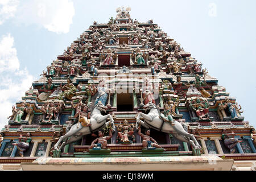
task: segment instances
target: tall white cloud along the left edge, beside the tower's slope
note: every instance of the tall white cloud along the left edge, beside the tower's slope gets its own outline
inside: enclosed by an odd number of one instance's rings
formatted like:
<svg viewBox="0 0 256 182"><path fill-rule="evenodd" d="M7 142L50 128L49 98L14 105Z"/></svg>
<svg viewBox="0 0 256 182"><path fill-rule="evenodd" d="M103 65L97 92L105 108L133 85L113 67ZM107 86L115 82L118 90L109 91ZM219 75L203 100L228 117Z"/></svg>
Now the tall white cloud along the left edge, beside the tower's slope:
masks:
<svg viewBox="0 0 256 182"><path fill-rule="evenodd" d="M3 51L3 47L4 50ZM19 60L14 47L14 38L8 34L0 39L0 129L8 124L11 106L22 100L34 78L27 69L19 68Z"/></svg>

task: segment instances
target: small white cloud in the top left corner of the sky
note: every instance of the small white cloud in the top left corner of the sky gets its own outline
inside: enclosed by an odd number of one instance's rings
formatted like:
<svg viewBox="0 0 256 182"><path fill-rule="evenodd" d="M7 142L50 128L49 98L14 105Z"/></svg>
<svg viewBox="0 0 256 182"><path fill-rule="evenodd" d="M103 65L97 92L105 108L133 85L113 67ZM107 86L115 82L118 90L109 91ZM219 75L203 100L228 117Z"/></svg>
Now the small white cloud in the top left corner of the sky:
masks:
<svg viewBox="0 0 256 182"><path fill-rule="evenodd" d="M19 0L1 0L0 1L0 25L5 20L15 15Z"/></svg>

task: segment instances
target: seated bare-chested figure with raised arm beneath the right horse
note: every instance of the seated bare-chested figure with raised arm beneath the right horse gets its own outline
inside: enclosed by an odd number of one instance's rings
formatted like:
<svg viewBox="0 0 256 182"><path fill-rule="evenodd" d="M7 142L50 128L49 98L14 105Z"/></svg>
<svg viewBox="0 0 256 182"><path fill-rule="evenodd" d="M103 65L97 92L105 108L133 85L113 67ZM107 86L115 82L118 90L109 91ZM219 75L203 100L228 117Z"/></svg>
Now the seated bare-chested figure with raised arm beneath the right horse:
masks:
<svg viewBox="0 0 256 182"><path fill-rule="evenodd" d="M158 145L158 142L154 140L154 138L150 137L150 129L146 129L145 134L143 135L141 133L141 127L138 127L139 131L138 134L142 138L142 147L147 150L154 150L155 148L162 148ZM163 148L164 151L166 151L165 148Z"/></svg>

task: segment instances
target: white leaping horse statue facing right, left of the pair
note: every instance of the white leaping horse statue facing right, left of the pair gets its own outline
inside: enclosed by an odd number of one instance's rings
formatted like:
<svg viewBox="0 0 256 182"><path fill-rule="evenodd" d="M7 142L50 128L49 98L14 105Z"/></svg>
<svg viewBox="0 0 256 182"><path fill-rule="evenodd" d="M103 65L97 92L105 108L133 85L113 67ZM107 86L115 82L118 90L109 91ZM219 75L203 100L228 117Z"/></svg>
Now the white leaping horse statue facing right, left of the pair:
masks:
<svg viewBox="0 0 256 182"><path fill-rule="evenodd" d="M89 107L92 107L92 102L89 103ZM101 115L101 111L105 111L108 109L107 106L104 106L100 101L97 105L94 106L94 109L92 110L92 113L90 114L90 124L92 126L89 127L83 127L81 125L81 122L77 122L75 125L67 127L66 131L67 133L60 137L60 139L57 141L57 143L54 146L54 150L60 151L61 148L63 148L66 144L76 142L77 140L80 140L82 136L91 134L93 131L96 131L98 129L101 129L102 127L109 126L110 123L112 124L113 131L115 130L114 125L114 119L110 114L108 115ZM106 122L106 119L110 119L110 121ZM60 142L67 139L65 142L63 142L58 148Z"/></svg>

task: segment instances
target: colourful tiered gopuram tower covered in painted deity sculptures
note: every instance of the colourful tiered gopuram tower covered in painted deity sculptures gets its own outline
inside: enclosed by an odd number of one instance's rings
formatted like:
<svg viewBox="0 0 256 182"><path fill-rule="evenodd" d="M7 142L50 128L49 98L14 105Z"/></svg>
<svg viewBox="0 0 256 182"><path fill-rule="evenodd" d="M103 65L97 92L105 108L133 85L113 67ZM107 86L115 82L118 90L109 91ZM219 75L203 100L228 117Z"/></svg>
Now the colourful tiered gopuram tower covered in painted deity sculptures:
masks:
<svg viewBox="0 0 256 182"><path fill-rule="evenodd" d="M16 102L2 169L255 170L255 130L236 98L129 11L93 22Z"/></svg>

